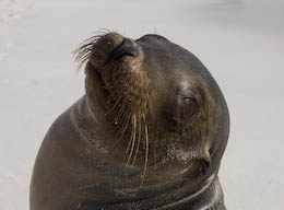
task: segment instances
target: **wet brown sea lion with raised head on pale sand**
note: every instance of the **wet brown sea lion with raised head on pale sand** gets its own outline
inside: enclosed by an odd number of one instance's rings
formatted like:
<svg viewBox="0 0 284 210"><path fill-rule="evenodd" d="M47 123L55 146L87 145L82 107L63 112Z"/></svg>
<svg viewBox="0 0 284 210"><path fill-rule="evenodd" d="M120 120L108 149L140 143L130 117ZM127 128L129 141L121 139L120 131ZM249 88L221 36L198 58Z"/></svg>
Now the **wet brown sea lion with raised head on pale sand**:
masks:
<svg viewBox="0 0 284 210"><path fill-rule="evenodd" d="M201 61L163 36L115 32L75 55L86 94L44 139L31 210L224 210L228 109Z"/></svg>

